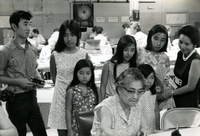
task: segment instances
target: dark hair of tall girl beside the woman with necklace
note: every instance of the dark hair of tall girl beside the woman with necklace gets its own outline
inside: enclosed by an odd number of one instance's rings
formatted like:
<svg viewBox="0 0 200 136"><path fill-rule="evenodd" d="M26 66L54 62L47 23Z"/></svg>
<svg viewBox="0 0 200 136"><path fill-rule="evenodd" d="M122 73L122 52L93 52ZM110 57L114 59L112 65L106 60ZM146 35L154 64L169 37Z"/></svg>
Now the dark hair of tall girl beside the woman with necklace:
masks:
<svg viewBox="0 0 200 136"><path fill-rule="evenodd" d="M152 41L151 38L154 34L156 33L164 33L166 35L166 42L165 45L163 46L162 49L160 49L158 52L166 52L167 51L167 45L168 45L168 32L165 26L157 24L155 26L153 26L151 28L151 30L148 33L148 37L147 37L147 45L145 47L146 50L152 51L153 47L152 47Z"/></svg>

